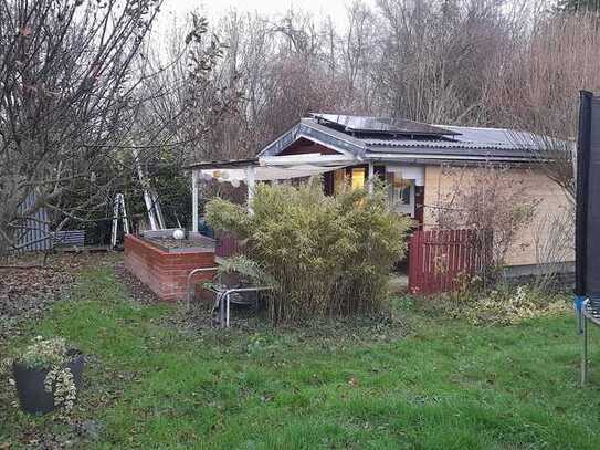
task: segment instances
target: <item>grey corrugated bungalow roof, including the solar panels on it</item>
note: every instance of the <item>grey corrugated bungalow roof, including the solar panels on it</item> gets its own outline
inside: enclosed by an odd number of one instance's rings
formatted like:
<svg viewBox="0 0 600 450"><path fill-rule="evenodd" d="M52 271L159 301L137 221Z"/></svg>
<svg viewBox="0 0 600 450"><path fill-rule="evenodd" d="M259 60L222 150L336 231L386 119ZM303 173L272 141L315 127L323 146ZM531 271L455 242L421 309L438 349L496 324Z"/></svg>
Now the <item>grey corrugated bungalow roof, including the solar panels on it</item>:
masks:
<svg viewBox="0 0 600 450"><path fill-rule="evenodd" d="M429 125L402 119L313 113L259 155L276 156L299 138L360 160L404 163L539 161L540 139L505 128ZM550 157L550 156L549 156Z"/></svg>

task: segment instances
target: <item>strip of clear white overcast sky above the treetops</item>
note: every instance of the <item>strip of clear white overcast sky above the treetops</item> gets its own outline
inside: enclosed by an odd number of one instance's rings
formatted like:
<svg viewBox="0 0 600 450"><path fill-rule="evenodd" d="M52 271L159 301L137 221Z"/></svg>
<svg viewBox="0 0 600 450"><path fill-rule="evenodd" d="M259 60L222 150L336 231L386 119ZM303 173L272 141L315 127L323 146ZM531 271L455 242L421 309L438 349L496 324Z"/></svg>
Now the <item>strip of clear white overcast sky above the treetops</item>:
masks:
<svg viewBox="0 0 600 450"><path fill-rule="evenodd" d="M160 22L171 23L172 18L200 9L209 20L215 20L231 9L284 14L290 8L313 13L316 18L330 15L338 27L346 24L347 0L165 0Z"/></svg>

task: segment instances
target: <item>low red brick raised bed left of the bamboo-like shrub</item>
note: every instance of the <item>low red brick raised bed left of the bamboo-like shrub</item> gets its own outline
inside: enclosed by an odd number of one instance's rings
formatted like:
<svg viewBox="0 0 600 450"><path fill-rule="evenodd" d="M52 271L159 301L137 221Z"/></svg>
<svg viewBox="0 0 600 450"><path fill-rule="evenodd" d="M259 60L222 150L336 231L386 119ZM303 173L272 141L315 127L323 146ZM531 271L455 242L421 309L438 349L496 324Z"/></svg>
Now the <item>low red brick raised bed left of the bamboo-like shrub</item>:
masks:
<svg viewBox="0 0 600 450"><path fill-rule="evenodd" d="M125 269L164 301L185 300L190 271L214 265L214 249L169 252L136 236L125 237ZM212 272L199 273L193 283L212 275Z"/></svg>

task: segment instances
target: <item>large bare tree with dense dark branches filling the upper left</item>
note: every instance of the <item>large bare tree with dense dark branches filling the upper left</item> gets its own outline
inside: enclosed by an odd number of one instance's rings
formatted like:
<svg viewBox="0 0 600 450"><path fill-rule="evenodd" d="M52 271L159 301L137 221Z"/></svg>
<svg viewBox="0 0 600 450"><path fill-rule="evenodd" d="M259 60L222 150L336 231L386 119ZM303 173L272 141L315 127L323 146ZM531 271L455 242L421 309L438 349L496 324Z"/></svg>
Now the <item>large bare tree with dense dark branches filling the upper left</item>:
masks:
<svg viewBox="0 0 600 450"><path fill-rule="evenodd" d="M109 218L117 189L140 193L136 160L173 176L218 155L207 136L239 97L234 75L223 83L215 71L224 48L200 14L172 28L168 49L149 40L159 6L0 6L0 248L14 248L40 208L54 229Z"/></svg>

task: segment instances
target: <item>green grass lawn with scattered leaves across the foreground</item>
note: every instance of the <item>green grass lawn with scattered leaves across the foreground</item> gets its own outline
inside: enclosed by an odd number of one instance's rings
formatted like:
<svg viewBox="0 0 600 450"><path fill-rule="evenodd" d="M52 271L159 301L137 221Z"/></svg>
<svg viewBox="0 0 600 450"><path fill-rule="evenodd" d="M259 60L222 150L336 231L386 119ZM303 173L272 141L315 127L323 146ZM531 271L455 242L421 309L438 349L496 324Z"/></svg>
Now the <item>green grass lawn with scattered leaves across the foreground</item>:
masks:
<svg viewBox="0 0 600 450"><path fill-rule="evenodd" d="M409 335L386 339L349 327L186 334L165 324L175 308L127 301L110 268L84 272L71 301L12 343L57 334L92 355L81 401L70 418L32 418L2 387L0 448L600 448L600 378L577 387L572 316L474 327L404 306ZM96 439L77 440L88 419Z"/></svg>

